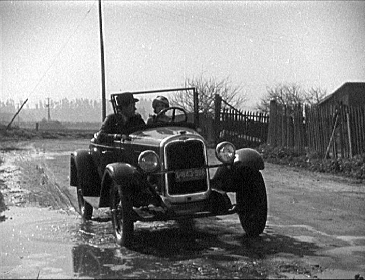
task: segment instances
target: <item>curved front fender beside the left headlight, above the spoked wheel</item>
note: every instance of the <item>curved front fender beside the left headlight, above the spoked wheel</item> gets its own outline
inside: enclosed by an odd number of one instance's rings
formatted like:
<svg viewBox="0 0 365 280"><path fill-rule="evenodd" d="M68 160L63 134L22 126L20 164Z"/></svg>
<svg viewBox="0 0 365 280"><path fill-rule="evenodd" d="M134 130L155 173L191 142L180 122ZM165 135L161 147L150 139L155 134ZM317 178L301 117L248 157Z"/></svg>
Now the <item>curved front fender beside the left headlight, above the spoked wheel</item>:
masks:
<svg viewBox="0 0 365 280"><path fill-rule="evenodd" d="M121 186L122 195L131 195L133 206L161 204L161 198L147 179L132 165L119 162L108 164L101 183L99 207L108 207L113 183Z"/></svg>

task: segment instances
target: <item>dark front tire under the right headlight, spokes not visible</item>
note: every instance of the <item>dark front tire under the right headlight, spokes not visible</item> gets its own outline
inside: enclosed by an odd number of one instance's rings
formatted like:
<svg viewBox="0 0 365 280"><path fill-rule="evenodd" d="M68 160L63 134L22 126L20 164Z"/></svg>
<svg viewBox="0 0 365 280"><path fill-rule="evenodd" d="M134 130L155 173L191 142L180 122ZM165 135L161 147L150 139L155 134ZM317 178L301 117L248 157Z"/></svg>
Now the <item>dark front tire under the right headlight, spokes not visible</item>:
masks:
<svg viewBox="0 0 365 280"><path fill-rule="evenodd" d="M258 236L265 228L267 219L267 195L260 171L249 175L247 187L236 192L237 214L248 236Z"/></svg>

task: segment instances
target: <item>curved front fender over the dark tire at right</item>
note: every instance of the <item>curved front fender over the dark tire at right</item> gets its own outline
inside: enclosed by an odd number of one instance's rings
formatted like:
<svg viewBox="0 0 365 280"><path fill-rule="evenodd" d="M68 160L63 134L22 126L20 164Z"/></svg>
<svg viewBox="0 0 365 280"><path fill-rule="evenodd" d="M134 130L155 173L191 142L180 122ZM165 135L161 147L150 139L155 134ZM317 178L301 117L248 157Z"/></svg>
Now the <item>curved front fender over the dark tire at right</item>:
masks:
<svg viewBox="0 0 365 280"><path fill-rule="evenodd" d="M236 192L245 187L252 171L264 169L264 160L260 153L254 149L244 148L236 151L234 162L230 166L221 166L212 178L212 187Z"/></svg>

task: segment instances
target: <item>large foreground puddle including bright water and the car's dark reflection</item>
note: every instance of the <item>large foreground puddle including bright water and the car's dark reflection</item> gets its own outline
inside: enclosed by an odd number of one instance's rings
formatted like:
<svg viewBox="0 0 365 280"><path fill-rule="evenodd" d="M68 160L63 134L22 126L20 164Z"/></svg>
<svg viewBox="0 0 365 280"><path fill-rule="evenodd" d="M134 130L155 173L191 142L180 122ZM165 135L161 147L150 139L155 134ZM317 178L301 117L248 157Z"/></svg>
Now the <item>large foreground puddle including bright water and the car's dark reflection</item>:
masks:
<svg viewBox="0 0 365 280"><path fill-rule="evenodd" d="M36 207L10 207L2 232L1 266L9 278L232 278L255 275L255 262L175 222L136 223L132 250L119 247L111 223ZM227 247L228 246L228 247ZM233 265L233 266L232 266ZM245 267L244 270L243 267Z"/></svg>

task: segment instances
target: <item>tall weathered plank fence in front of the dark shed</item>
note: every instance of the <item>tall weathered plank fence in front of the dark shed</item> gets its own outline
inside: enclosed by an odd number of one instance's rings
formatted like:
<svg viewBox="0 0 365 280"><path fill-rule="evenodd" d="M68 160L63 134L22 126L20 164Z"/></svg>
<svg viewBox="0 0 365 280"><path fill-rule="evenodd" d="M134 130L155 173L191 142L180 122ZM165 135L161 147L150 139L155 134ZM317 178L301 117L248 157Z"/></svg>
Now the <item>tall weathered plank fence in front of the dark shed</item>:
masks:
<svg viewBox="0 0 365 280"><path fill-rule="evenodd" d="M365 107L283 106L272 101L267 143L332 158L365 153Z"/></svg>

